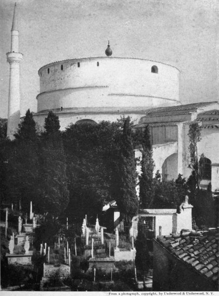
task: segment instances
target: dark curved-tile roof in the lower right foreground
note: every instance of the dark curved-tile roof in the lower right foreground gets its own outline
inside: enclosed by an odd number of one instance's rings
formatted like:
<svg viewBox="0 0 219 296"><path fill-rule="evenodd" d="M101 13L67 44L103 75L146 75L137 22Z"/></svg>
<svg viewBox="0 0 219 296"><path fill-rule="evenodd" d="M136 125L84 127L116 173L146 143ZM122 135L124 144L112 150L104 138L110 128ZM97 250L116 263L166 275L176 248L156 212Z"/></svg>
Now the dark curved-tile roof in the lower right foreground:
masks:
<svg viewBox="0 0 219 296"><path fill-rule="evenodd" d="M157 241L198 273L218 283L218 229L198 232L183 230L181 234L158 236Z"/></svg>

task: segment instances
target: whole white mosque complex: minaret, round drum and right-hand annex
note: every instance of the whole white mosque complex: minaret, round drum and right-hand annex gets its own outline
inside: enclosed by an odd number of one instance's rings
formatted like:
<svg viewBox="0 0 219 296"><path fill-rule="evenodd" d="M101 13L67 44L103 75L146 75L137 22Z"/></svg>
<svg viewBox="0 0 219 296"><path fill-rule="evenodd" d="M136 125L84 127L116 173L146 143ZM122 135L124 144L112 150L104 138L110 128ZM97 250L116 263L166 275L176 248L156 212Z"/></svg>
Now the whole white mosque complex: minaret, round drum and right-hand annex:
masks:
<svg viewBox="0 0 219 296"><path fill-rule="evenodd" d="M15 5L16 6L16 5ZM38 71L40 91L34 119L43 129L49 111L59 116L61 130L70 124L116 121L130 116L134 128L150 128L155 170L164 180L188 177L191 170L189 124L198 121L202 127L198 156L201 187L211 183L219 193L219 102L182 105L180 71L171 65L138 58L114 57L110 43L106 56L54 62ZM14 139L20 123L19 31L14 9L11 29L7 137ZM204 154L204 157L201 155ZM139 150L136 156L141 157ZM137 167L139 170L140 166Z"/></svg>

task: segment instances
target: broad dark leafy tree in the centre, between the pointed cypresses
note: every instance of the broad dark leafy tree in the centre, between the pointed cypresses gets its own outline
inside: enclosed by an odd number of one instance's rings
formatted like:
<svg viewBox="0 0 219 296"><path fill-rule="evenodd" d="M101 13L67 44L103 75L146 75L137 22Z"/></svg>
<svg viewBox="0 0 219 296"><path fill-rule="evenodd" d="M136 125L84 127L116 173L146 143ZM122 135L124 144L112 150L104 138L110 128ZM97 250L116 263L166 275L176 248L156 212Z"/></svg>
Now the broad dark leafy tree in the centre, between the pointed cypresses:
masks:
<svg viewBox="0 0 219 296"><path fill-rule="evenodd" d="M118 123L103 121L97 125L72 125L63 135L70 190L68 211L77 220L87 214L95 222L103 203L113 199L118 133Z"/></svg>

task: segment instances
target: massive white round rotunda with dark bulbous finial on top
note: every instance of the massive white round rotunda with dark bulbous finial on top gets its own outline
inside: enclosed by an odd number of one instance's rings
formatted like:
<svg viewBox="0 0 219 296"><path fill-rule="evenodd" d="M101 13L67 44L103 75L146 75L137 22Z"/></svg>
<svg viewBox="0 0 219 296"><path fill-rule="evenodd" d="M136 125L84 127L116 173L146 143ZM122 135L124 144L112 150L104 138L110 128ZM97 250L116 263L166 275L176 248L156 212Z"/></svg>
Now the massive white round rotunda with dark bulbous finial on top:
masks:
<svg viewBox="0 0 219 296"><path fill-rule="evenodd" d="M106 54L108 50L110 45ZM71 123L114 121L123 115L138 123L148 109L180 105L180 72L164 63L112 56L82 58L45 65L38 74L34 117L40 126L49 110L56 112L65 129Z"/></svg>

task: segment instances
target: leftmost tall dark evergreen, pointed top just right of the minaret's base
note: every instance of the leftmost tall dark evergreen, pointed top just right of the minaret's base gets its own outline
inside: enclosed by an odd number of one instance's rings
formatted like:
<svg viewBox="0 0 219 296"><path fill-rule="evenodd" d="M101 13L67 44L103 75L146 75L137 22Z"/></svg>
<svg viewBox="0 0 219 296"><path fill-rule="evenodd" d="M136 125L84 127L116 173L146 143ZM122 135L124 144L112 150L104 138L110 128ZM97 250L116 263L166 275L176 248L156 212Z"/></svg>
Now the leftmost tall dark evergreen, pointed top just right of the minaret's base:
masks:
<svg viewBox="0 0 219 296"><path fill-rule="evenodd" d="M7 195L29 212L30 201L39 199L38 137L33 113L28 110L9 145L7 159ZM35 208L36 209L36 208ZM37 209L36 209L37 210Z"/></svg>

